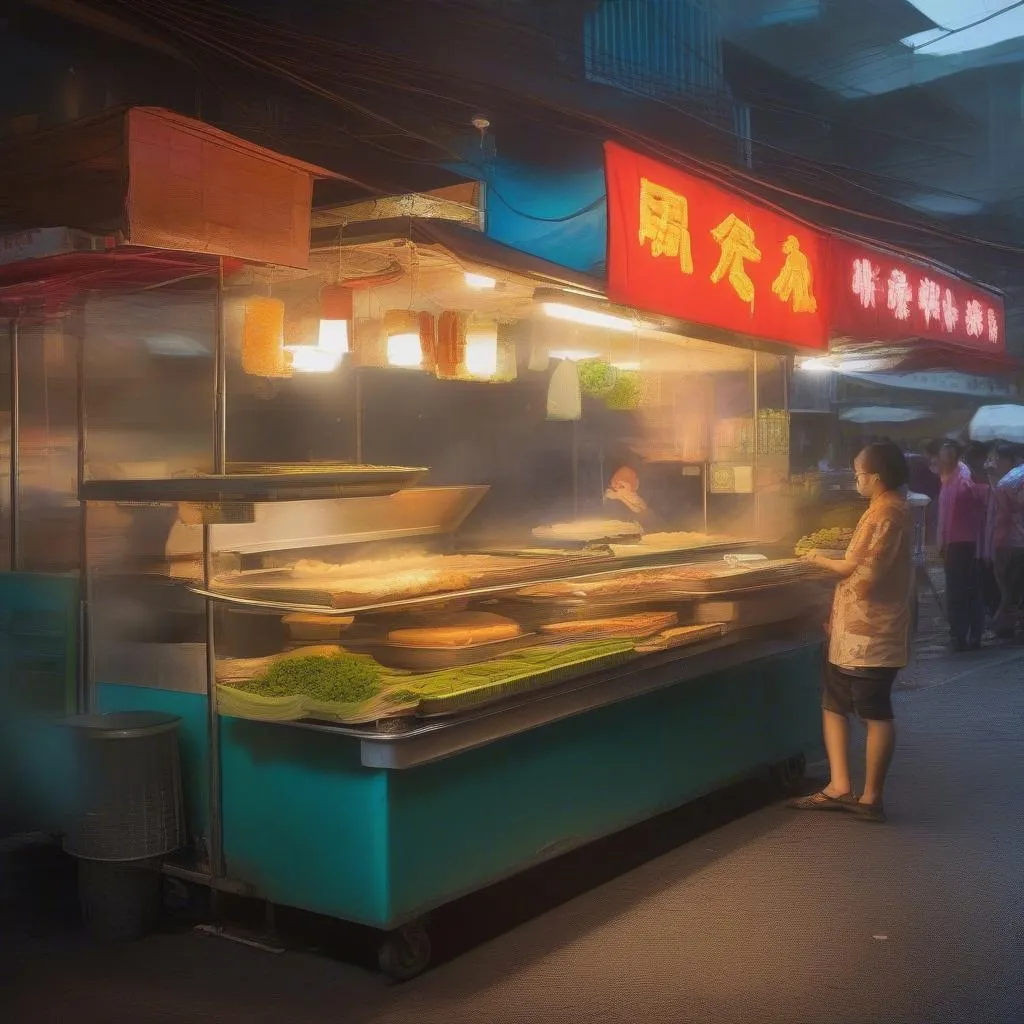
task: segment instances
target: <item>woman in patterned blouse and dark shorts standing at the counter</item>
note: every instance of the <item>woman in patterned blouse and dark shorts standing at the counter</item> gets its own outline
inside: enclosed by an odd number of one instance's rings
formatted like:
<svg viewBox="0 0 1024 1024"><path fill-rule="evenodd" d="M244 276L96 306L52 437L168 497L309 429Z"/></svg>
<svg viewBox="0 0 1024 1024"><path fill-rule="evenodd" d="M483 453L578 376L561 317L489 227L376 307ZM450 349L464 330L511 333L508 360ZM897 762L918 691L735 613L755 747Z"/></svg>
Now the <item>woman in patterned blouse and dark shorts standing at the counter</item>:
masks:
<svg viewBox="0 0 1024 1024"><path fill-rule="evenodd" d="M794 801L799 810L844 810L885 821L883 788L896 745L892 687L909 658L913 523L902 488L906 459L896 444L869 444L854 461L857 492L870 504L843 558L807 557L841 578L828 624L821 719L829 780ZM849 716L867 728L864 791L850 778Z"/></svg>

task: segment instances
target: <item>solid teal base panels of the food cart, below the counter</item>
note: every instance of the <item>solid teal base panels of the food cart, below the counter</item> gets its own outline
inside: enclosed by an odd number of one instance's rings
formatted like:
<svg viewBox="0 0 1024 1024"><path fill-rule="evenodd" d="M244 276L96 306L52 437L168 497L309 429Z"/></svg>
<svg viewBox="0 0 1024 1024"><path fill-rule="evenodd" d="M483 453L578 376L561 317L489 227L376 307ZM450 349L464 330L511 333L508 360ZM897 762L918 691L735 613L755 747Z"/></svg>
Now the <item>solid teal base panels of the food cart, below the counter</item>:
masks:
<svg viewBox="0 0 1024 1024"><path fill-rule="evenodd" d="M799 647L401 770L367 767L348 735L226 720L228 873L274 903L395 929L816 751L819 665Z"/></svg>

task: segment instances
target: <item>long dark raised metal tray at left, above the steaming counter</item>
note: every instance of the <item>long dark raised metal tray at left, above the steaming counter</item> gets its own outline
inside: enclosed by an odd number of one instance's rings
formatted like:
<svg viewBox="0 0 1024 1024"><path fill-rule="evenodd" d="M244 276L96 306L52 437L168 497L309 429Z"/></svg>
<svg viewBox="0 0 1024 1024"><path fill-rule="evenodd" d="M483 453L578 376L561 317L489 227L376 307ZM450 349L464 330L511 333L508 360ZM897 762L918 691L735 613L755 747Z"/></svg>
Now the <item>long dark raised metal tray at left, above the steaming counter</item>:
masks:
<svg viewBox="0 0 1024 1024"><path fill-rule="evenodd" d="M373 498L413 486L424 467L303 464L288 471L210 473L151 480L83 480L79 496L93 502L305 501L318 498Z"/></svg>

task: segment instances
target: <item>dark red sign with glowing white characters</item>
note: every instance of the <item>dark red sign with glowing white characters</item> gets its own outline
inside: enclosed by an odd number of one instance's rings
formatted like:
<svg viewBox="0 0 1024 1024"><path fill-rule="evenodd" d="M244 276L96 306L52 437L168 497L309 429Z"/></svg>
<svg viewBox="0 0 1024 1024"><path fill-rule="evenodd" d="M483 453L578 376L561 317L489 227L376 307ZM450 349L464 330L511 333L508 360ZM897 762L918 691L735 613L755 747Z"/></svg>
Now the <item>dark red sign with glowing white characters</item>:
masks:
<svg viewBox="0 0 1024 1024"><path fill-rule="evenodd" d="M831 240L831 332L860 340L930 338L1006 351L1002 299L927 264Z"/></svg>

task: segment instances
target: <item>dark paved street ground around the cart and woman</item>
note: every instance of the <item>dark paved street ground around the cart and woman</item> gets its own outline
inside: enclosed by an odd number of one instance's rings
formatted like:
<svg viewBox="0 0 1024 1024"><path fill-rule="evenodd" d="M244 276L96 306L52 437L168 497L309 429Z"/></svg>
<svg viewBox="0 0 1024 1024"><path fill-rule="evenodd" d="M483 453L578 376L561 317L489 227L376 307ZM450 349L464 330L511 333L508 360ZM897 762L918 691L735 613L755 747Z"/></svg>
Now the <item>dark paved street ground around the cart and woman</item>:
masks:
<svg viewBox="0 0 1024 1024"><path fill-rule="evenodd" d="M923 611L888 824L740 787L439 914L440 963L400 986L368 962L190 928L92 947L54 860L31 901L8 886L0 1020L1024 1020L1024 648L947 655Z"/></svg>

